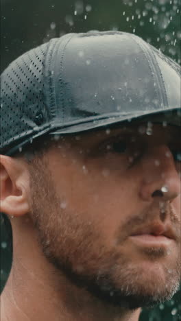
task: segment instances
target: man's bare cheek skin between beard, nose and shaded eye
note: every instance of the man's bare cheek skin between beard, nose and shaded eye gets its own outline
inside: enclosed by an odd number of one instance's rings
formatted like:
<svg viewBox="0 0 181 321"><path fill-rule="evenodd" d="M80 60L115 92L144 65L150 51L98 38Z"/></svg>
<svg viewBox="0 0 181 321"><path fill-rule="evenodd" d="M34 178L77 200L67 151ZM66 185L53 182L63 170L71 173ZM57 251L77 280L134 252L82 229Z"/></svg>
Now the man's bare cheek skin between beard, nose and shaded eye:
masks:
<svg viewBox="0 0 181 321"><path fill-rule="evenodd" d="M106 162L70 157L61 165L51 161L53 180L58 197L66 204L65 211L96 228L107 246L114 241L117 228L138 208L138 182L113 160L110 156Z"/></svg>

